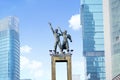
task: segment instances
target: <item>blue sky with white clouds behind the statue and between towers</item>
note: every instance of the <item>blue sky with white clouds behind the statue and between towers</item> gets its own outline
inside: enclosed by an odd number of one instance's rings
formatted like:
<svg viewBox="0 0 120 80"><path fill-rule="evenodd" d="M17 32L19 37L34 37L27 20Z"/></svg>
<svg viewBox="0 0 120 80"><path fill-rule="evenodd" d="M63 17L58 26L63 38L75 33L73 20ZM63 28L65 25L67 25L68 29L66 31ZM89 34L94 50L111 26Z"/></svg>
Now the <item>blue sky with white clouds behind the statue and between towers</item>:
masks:
<svg viewBox="0 0 120 80"><path fill-rule="evenodd" d="M72 74L84 80L80 0L0 0L0 19L7 16L19 19L21 79L51 80L51 22L54 29L59 26L72 36ZM66 63L56 63L56 67L57 80L67 80Z"/></svg>

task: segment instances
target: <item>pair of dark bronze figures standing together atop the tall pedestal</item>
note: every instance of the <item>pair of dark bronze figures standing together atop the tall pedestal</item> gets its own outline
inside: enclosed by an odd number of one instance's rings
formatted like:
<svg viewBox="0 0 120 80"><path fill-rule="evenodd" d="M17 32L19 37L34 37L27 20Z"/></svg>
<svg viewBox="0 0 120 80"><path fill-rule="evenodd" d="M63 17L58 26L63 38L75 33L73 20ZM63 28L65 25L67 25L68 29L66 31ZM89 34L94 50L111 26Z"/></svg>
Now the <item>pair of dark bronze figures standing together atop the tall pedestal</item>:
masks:
<svg viewBox="0 0 120 80"><path fill-rule="evenodd" d="M58 27L59 31L61 33L58 33L58 29L53 29L52 24L49 23L50 28L53 32L53 35L55 37L55 44L54 44L54 53L56 54L56 50L57 50L57 46L59 46L60 52L61 54L63 54L63 50L67 50L67 52L69 52L69 43L68 43L68 39L70 40L70 42L72 42L71 36L70 34L67 34L67 30L65 30L64 32L62 32L62 30L60 29L60 27ZM62 41L62 45L60 42L60 36L63 36L63 41Z"/></svg>

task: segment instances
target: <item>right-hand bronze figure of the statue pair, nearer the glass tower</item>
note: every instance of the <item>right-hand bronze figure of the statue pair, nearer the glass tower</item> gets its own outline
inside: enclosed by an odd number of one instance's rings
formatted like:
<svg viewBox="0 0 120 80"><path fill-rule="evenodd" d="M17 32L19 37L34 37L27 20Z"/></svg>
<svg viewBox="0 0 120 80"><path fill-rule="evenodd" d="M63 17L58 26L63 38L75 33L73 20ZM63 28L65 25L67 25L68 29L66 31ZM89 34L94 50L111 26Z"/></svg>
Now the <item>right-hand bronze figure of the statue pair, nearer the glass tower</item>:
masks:
<svg viewBox="0 0 120 80"><path fill-rule="evenodd" d="M68 43L68 39L70 40L70 42L72 42L71 36L69 34L67 34L67 31L65 30L64 32L62 32L62 30L60 29L60 27L58 27L62 36L63 36L63 42L62 42L62 51L63 49L66 49L67 52L69 52L69 43Z"/></svg>

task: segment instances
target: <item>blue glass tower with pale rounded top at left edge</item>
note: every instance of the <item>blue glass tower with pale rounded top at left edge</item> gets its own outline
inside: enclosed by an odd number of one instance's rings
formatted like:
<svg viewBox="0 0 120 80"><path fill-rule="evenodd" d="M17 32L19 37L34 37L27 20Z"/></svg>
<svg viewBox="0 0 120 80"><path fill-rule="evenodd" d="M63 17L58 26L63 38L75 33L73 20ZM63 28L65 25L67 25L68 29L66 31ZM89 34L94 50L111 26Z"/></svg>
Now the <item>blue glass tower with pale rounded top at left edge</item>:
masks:
<svg viewBox="0 0 120 80"><path fill-rule="evenodd" d="M0 20L0 80L20 80L18 19Z"/></svg>

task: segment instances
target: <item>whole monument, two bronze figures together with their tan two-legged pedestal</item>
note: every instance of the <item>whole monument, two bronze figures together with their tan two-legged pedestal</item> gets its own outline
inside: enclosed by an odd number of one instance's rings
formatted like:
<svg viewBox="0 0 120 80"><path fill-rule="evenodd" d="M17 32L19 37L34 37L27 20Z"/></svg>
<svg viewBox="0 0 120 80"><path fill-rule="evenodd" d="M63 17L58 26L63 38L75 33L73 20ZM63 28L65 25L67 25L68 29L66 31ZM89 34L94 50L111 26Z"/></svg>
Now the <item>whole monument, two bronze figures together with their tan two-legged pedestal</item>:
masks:
<svg viewBox="0 0 120 80"><path fill-rule="evenodd" d="M52 80L56 80L56 62L66 62L67 63L67 80L72 80L72 62L71 56L73 50L69 49L69 43L72 42L72 38L70 34L67 34L67 30L62 32L60 27L58 29L53 29L52 24L49 23L50 29L55 37L54 50L49 50L51 56L51 73ZM60 31L60 33L59 33ZM60 37L63 37L63 41L61 44ZM59 47L59 51L57 51L57 46Z"/></svg>

